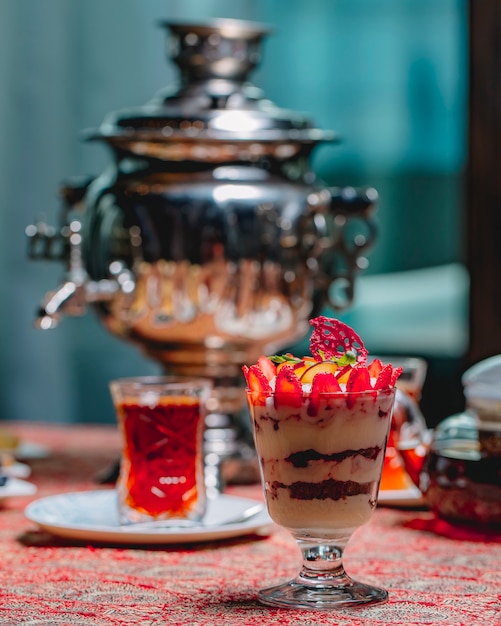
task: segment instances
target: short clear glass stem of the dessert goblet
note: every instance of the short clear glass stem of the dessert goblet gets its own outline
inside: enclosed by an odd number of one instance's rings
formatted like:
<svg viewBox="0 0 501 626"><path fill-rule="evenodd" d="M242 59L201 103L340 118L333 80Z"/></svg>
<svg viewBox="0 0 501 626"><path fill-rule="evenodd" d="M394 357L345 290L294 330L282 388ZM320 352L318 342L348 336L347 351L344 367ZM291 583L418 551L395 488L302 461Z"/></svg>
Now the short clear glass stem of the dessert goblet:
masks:
<svg viewBox="0 0 501 626"><path fill-rule="evenodd" d="M351 584L343 566L343 551L348 537L340 537L335 542L325 540L297 539L303 556L303 566L296 582L306 587L345 587Z"/></svg>

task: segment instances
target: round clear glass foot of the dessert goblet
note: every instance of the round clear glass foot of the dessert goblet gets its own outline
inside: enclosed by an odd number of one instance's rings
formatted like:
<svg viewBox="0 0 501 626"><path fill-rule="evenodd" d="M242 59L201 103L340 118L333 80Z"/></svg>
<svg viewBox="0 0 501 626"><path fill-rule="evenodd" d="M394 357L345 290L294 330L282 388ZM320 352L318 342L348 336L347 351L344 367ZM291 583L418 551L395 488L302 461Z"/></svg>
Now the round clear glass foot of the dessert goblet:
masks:
<svg viewBox="0 0 501 626"><path fill-rule="evenodd" d="M269 606L321 611L361 607L388 600L386 590L346 578L346 584L312 587L291 580L283 585L262 589L258 592L258 600Z"/></svg>

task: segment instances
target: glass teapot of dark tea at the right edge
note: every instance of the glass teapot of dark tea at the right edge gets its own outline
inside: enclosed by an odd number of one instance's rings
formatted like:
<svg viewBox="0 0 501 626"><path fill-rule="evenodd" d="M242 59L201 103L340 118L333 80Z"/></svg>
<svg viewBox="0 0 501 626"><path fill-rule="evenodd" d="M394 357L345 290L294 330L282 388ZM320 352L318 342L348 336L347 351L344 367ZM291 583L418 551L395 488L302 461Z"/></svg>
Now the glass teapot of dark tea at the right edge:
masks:
<svg viewBox="0 0 501 626"><path fill-rule="evenodd" d="M406 421L398 451L429 508L454 523L501 529L501 355L462 377L466 408L424 427L417 405L400 397Z"/></svg>

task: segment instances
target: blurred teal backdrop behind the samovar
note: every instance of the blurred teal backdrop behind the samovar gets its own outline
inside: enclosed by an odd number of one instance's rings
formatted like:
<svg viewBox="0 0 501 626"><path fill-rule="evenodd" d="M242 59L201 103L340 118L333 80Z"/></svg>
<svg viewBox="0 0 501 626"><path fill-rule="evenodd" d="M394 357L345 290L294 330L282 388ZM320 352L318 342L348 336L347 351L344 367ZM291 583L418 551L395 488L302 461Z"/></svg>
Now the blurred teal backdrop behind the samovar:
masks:
<svg viewBox="0 0 501 626"><path fill-rule="evenodd" d="M80 133L177 77L164 19L273 27L252 81L337 131L313 167L378 189L381 235L344 319L382 353L430 360L449 405L467 345L463 170L466 0L2 0L0 2L0 419L113 422L111 378L157 371L92 311L33 329L62 266L26 256L24 229L58 219L58 188L110 155ZM445 387L444 387L445 385Z"/></svg>

